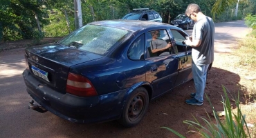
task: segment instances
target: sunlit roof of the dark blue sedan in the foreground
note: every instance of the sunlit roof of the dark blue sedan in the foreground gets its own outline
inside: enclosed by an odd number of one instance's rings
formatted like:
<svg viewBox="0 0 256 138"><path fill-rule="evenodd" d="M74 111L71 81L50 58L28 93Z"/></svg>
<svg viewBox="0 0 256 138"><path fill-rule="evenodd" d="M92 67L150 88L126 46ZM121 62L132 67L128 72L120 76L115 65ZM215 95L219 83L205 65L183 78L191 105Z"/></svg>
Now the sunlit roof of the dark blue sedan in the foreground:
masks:
<svg viewBox="0 0 256 138"><path fill-rule="evenodd" d="M137 30L144 30L147 28L167 28L168 27L168 28L179 29L167 23L158 23L154 21L126 20L126 19L94 21L89 24L94 24L98 26L109 26L113 28L131 30L134 32Z"/></svg>

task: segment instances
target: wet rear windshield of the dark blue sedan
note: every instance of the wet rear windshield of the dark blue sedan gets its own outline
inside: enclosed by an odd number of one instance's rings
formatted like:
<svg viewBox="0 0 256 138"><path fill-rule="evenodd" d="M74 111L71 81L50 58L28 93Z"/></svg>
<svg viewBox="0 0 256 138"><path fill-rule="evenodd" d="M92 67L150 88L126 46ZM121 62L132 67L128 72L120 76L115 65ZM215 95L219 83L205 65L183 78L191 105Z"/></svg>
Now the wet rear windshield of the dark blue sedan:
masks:
<svg viewBox="0 0 256 138"><path fill-rule="evenodd" d="M62 39L60 43L99 55L105 55L120 43L129 31L107 26L86 25Z"/></svg>

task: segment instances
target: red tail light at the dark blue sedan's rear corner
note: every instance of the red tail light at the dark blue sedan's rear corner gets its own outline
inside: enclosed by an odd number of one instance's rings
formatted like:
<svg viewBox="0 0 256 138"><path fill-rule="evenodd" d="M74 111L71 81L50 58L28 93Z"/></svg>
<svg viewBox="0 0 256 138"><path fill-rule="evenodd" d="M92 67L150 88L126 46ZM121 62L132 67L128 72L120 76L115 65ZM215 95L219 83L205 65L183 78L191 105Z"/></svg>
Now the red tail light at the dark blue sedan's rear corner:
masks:
<svg viewBox="0 0 256 138"><path fill-rule="evenodd" d="M73 73L68 73L66 92L80 97L92 97L98 95L89 79Z"/></svg>

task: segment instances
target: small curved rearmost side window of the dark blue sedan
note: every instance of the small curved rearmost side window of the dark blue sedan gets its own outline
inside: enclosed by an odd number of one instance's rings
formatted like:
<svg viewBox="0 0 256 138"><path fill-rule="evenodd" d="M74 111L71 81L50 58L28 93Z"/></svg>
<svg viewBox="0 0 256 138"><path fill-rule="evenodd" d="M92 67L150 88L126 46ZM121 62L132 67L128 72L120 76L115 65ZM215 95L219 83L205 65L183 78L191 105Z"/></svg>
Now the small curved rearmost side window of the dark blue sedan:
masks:
<svg viewBox="0 0 256 138"><path fill-rule="evenodd" d="M144 59L144 34L140 35L130 46L127 56L132 60L143 60Z"/></svg>

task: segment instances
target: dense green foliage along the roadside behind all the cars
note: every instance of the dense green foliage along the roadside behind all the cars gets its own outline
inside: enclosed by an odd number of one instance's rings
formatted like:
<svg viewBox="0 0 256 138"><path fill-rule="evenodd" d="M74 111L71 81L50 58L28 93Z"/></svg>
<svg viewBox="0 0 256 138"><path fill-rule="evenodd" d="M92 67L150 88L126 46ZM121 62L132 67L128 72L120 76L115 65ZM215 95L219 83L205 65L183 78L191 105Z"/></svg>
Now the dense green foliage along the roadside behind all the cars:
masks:
<svg viewBox="0 0 256 138"><path fill-rule="evenodd" d="M133 8L156 10L169 23L185 12L189 3L197 3L204 14L217 21L242 19L256 12L256 2L240 0L84 0L81 1L82 23L105 19L120 19ZM74 1L61 0L1 0L0 41L62 37L75 30Z"/></svg>

